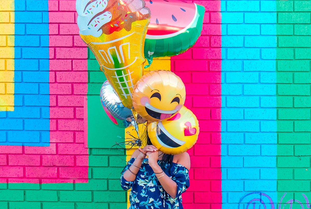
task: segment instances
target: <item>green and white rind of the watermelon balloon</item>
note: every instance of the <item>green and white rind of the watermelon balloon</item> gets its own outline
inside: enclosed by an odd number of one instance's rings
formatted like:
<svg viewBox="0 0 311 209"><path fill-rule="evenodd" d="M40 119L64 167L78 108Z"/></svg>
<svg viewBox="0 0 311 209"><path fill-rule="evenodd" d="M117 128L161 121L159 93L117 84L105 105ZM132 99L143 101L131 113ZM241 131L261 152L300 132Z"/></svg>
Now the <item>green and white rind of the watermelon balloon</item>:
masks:
<svg viewBox="0 0 311 209"><path fill-rule="evenodd" d="M153 57L171 57L178 55L187 51L196 43L197 39L201 35L205 8L197 4L195 4L195 6L197 11L194 21L191 21L191 24L189 24L188 27L183 29L181 32L176 32L170 35L147 36L152 37L152 39L148 39L146 37L144 55L149 65L151 65ZM161 36L170 37L160 39ZM159 39L156 39L156 37L159 37Z"/></svg>

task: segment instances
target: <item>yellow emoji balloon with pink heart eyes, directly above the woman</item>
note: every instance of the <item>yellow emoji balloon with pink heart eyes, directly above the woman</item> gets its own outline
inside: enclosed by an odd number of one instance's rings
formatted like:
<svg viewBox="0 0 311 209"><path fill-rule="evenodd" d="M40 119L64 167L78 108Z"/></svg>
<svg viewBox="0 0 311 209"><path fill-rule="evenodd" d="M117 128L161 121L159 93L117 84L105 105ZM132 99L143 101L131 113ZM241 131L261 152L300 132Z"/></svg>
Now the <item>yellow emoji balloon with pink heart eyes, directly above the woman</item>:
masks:
<svg viewBox="0 0 311 209"><path fill-rule="evenodd" d="M184 106L169 119L148 125L151 143L166 154L186 152L196 143L198 135L197 117Z"/></svg>

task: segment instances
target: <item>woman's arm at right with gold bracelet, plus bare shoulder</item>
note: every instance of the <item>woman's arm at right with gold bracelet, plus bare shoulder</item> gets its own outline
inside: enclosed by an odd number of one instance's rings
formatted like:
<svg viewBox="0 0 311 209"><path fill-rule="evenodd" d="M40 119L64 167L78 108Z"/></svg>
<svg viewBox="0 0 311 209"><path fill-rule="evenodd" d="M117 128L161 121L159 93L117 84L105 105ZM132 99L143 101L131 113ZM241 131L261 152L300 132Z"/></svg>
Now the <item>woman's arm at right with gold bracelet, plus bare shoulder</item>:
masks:
<svg viewBox="0 0 311 209"><path fill-rule="evenodd" d="M172 198L176 198L177 193L177 184L174 180L169 178L169 176L165 175L161 167L158 165L158 152L147 152L149 165L152 170L155 172L156 177L160 181L165 192L167 192ZM177 163L185 166L187 169L190 169L190 157L187 152L184 152L178 155ZM162 176L162 177L161 177ZM160 177L160 178L159 178Z"/></svg>

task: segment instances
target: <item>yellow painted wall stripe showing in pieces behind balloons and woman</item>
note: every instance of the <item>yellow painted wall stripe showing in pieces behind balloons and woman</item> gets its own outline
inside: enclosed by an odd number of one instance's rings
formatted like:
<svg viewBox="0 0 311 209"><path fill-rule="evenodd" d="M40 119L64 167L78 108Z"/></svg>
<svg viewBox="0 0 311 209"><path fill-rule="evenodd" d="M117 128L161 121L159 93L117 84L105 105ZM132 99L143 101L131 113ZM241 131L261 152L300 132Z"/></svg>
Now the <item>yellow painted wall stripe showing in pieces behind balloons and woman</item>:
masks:
<svg viewBox="0 0 311 209"><path fill-rule="evenodd" d="M164 57L164 58L154 58L152 61L152 64L150 67L144 69L144 72L149 72L152 70L171 70L171 60L169 57ZM139 130L143 130L142 125L140 125ZM131 138L130 135L128 135L126 132L130 132L133 136L137 136L137 133L135 130L133 130L133 127L129 127L125 129L124 132L124 138ZM127 148L130 148L129 146ZM131 159L131 155L133 154L133 152L137 149L137 147L132 148L130 150L126 151L126 161L129 161ZM128 207L130 207L130 201L129 201L129 195L130 195L130 191L128 190L127 192L127 196L128 196Z"/></svg>

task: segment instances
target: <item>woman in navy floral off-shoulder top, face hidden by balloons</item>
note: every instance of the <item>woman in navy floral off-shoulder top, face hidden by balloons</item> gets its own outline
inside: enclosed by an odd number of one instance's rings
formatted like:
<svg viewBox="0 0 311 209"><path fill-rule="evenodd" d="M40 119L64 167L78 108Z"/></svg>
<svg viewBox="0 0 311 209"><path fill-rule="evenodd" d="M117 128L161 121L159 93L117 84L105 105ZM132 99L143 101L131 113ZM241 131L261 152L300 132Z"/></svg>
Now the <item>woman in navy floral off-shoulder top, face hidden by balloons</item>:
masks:
<svg viewBox="0 0 311 209"><path fill-rule="evenodd" d="M129 209L183 209L181 193L189 187L190 157L187 152L168 155L147 145L135 150L121 172L121 186L132 189Z"/></svg>

